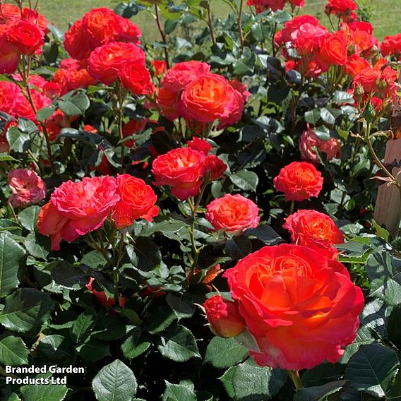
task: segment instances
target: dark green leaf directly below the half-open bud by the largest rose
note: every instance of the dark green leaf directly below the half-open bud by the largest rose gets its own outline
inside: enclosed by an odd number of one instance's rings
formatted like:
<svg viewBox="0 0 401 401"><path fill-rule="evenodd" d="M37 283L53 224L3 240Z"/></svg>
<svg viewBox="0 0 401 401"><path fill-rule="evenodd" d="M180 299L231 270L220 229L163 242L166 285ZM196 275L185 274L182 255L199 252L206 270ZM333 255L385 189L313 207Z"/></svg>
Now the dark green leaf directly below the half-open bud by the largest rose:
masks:
<svg viewBox="0 0 401 401"><path fill-rule="evenodd" d="M243 361L247 354L248 349L234 338L214 337L206 348L205 363L215 368L229 368Z"/></svg>

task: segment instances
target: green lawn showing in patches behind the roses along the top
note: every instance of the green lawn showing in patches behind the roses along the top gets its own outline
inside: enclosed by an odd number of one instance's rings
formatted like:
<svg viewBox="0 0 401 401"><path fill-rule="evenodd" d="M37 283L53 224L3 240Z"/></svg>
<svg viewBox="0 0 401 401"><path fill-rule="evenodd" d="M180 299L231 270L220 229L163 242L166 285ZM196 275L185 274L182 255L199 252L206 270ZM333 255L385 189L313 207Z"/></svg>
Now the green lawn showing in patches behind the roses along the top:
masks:
<svg viewBox="0 0 401 401"><path fill-rule="evenodd" d="M114 8L119 2L119 0L41 0L40 11L54 25L66 30L68 23L81 18L91 8L103 6ZM306 0L302 13L312 14L321 19L324 25L329 25L324 13L324 4L325 0ZM379 40L382 40L385 35L401 32L401 24L397 20L401 13L400 0L360 0L359 4L369 6L371 23L375 27L374 34ZM227 6L222 0L213 0L212 8L217 16L227 13ZM155 20L150 13L139 13L138 16L133 17L133 22L141 28L145 40L160 39Z"/></svg>

